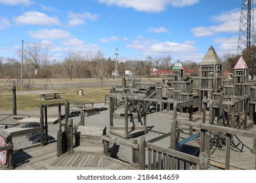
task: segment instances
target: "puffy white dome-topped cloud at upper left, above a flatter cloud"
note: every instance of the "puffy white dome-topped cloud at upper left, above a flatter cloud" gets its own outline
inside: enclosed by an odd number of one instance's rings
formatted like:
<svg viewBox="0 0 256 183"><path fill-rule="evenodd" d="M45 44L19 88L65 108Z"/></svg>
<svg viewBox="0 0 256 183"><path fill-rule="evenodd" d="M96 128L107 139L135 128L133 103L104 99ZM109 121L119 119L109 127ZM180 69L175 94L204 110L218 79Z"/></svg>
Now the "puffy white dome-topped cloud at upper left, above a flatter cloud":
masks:
<svg viewBox="0 0 256 183"><path fill-rule="evenodd" d="M61 25L57 17L50 17L42 12L30 11L14 17L16 24L29 24L29 25Z"/></svg>

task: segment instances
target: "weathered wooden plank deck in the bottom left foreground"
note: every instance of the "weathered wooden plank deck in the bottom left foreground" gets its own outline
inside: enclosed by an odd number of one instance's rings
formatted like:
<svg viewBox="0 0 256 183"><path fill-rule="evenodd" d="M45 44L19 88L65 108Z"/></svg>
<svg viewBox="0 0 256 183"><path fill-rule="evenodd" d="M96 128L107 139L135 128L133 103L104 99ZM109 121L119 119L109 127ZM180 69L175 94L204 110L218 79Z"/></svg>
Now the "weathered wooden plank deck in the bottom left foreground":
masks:
<svg viewBox="0 0 256 183"><path fill-rule="evenodd" d="M1 169L1 168L0 168ZM56 142L46 146L33 146L14 152L14 169L16 170L72 170L72 169L136 169L129 163L124 163L107 156L92 154L62 154L56 156Z"/></svg>

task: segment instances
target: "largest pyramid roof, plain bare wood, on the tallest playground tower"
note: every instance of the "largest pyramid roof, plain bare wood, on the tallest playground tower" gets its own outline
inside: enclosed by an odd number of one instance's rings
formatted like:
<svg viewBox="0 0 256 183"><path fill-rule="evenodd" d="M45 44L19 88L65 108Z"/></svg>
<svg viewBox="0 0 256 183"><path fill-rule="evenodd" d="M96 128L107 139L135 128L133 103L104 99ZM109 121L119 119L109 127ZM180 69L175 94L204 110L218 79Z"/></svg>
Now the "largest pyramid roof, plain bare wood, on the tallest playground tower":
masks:
<svg viewBox="0 0 256 183"><path fill-rule="evenodd" d="M219 56L215 52L213 46L210 46L207 53L203 57L200 65L215 65L215 64L222 65L221 59L219 59Z"/></svg>

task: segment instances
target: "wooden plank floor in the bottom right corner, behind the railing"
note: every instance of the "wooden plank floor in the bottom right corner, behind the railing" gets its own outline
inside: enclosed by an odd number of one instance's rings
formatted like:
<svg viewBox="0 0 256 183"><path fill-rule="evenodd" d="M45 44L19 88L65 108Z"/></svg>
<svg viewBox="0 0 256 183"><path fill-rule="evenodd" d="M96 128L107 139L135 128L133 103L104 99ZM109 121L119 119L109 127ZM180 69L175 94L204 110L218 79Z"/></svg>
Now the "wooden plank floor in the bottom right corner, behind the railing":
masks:
<svg viewBox="0 0 256 183"><path fill-rule="evenodd" d="M212 165L225 167L225 151L218 151L209 158ZM230 169L255 170L255 154L251 152L230 152Z"/></svg>

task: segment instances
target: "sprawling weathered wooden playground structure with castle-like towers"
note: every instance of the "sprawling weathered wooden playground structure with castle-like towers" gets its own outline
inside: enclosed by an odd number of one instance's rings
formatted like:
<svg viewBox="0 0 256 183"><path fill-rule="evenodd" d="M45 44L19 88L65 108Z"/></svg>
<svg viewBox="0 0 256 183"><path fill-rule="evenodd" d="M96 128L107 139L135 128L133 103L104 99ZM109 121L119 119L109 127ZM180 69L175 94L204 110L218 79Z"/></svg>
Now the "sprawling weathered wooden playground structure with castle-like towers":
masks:
<svg viewBox="0 0 256 183"><path fill-rule="evenodd" d="M41 148L54 150L46 141L49 107L58 107L59 130L56 154L49 152L51 155L41 160L37 157L34 162L51 159L51 163L37 164L37 169L256 169L256 131L251 130L256 122L256 82L249 80L244 59L238 60L231 78L224 78L222 63L210 46L200 63L200 76L185 77L183 71L177 61L171 78L161 82L134 81L129 86L123 78L122 86L112 88L105 99L109 129L85 125L84 112L79 124L74 125L68 101L40 105L40 131L45 134L41 135ZM170 132L146 140L147 116L154 112L170 114ZM123 119L123 125L114 125L117 118ZM129 119L133 125L129 125ZM135 120L140 125L135 125ZM181 137L184 131L188 131L185 138ZM7 157L3 167L18 169L13 160L12 133L1 129L0 136L4 141L0 151ZM249 139L249 145L242 142L244 138ZM158 144L163 140L167 147ZM127 152L131 162L114 158L117 145L131 150Z"/></svg>

